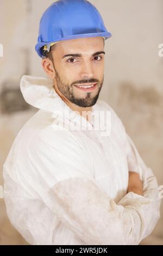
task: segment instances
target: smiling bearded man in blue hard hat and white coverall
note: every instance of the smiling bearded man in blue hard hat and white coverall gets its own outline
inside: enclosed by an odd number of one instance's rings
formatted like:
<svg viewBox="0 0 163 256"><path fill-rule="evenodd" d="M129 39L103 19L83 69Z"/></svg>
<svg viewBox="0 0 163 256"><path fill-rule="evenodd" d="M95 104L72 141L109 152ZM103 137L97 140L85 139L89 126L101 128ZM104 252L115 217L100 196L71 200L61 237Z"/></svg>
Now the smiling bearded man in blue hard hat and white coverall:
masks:
<svg viewBox="0 0 163 256"><path fill-rule="evenodd" d="M9 219L30 244L138 245L159 219L152 170L98 99L110 36L87 1L57 1L41 18L36 51L51 79L22 77L24 99L39 111L3 173Z"/></svg>

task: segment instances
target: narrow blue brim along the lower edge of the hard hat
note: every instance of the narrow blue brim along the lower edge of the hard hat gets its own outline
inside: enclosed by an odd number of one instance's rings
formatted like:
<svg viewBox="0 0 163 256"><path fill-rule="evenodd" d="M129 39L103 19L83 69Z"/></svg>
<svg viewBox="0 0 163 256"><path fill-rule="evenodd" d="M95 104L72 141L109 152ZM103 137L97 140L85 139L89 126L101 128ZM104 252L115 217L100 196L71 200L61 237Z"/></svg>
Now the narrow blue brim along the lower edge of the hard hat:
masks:
<svg viewBox="0 0 163 256"><path fill-rule="evenodd" d="M105 39L108 39L112 36L110 32L100 32L100 33L89 33L89 34L78 34L78 35L68 35L64 38L58 38L56 40L53 40L51 42L38 42L35 46L36 52L39 54L39 56L42 58L42 46L46 44L51 44L52 42L57 41L64 41L64 40L70 40L70 39L78 39L78 38L88 38L88 37L96 37L96 36L104 36Z"/></svg>

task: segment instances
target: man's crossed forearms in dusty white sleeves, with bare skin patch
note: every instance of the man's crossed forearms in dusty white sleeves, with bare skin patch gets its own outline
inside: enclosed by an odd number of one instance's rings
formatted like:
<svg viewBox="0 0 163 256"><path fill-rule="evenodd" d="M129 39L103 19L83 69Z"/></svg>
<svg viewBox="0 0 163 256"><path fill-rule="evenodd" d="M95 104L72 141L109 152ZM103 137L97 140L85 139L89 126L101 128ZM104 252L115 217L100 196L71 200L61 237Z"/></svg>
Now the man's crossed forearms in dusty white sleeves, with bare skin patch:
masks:
<svg viewBox="0 0 163 256"><path fill-rule="evenodd" d="M156 178L130 143L138 172L129 172L128 192L118 204L87 178L60 181L50 192L54 213L86 244L138 245L160 217Z"/></svg>

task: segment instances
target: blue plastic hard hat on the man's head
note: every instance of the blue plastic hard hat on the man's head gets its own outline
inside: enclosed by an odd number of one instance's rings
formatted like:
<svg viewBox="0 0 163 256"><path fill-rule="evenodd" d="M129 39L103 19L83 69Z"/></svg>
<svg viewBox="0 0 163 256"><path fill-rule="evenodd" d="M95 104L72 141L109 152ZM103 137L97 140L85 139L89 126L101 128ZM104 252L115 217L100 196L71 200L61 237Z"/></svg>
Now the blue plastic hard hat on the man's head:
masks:
<svg viewBox="0 0 163 256"><path fill-rule="evenodd" d="M42 57L42 47L52 42L93 36L111 36L96 7L85 0L59 0L41 17L35 50Z"/></svg>

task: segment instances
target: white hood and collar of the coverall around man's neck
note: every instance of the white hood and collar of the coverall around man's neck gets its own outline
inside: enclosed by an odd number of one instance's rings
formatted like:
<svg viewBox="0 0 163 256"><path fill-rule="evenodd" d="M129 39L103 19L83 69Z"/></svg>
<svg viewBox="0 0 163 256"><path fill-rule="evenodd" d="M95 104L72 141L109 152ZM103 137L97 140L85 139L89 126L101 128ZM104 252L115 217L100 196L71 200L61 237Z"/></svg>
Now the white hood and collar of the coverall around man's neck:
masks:
<svg viewBox="0 0 163 256"><path fill-rule="evenodd" d="M92 125L84 117L73 111L55 92L53 81L47 77L27 76L21 78L20 89L24 100L30 105L53 112L53 115L64 114L64 118L82 127L92 129L93 121L98 112L97 103L92 106ZM97 101L98 102L98 101Z"/></svg>

